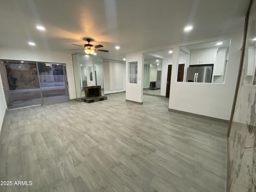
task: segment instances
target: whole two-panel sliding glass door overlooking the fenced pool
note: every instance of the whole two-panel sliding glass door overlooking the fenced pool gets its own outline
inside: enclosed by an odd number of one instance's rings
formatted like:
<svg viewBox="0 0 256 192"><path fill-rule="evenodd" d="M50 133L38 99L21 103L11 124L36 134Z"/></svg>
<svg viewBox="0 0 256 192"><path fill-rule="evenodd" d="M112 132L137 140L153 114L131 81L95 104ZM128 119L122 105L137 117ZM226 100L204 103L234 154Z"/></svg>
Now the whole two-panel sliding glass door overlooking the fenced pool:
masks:
<svg viewBox="0 0 256 192"><path fill-rule="evenodd" d="M0 60L8 110L68 101L65 64Z"/></svg>

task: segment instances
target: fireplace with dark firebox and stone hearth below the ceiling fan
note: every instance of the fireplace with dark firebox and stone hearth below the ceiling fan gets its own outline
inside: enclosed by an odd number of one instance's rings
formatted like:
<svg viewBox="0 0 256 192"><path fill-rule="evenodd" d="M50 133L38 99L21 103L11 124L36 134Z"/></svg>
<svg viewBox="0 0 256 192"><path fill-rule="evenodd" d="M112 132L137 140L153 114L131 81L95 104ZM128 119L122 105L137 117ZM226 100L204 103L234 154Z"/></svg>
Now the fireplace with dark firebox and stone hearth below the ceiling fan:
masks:
<svg viewBox="0 0 256 192"><path fill-rule="evenodd" d="M84 102L92 103L108 99L106 96L101 95L101 86L86 86L84 87L85 98Z"/></svg>

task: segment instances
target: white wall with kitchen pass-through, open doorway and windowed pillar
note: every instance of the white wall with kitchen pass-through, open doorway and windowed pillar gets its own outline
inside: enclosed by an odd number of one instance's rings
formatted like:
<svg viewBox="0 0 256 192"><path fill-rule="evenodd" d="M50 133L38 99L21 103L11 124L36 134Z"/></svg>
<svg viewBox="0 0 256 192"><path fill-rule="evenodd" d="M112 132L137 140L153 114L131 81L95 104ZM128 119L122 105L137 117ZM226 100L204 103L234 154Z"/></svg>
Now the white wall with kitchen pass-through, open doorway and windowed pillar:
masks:
<svg viewBox="0 0 256 192"><path fill-rule="evenodd" d="M166 50L173 48L172 59L172 77L169 108L229 120L232 103L234 100L234 92L236 87L238 68L240 63L242 46L243 31L222 34L220 36L212 36L192 40L190 42L180 42L176 44L150 48L138 52L126 54L126 70L127 64L130 61L138 61L138 77L142 77L142 61L143 53L154 52L158 50ZM176 82L178 72L178 60L180 46L189 44L197 44L203 42L214 42L220 40L231 39L228 68L226 73L225 84L212 84L212 83L189 83L189 82ZM164 62L163 62L164 63ZM163 64L164 75L164 64ZM164 78L164 77L163 77ZM126 79L127 80L127 79ZM139 81L138 81L139 82ZM165 80L162 80L164 86ZM126 89L126 99L134 101L142 101L142 87L141 82L138 85L128 85ZM166 86L166 85L165 85ZM166 87L162 87L164 91ZM163 95L161 93L161 95Z"/></svg>

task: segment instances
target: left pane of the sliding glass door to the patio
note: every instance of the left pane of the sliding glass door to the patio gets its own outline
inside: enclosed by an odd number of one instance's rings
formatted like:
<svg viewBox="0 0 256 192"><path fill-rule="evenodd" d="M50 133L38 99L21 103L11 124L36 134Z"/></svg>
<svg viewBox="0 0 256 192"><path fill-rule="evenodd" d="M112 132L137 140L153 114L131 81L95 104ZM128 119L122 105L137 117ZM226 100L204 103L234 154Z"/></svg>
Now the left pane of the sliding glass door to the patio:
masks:
<svg viewBox="0 0 256 192"><path fill-rule="evenodd" d="M1 65L8 109L42 104L36 62L4 60Z"/></svg>

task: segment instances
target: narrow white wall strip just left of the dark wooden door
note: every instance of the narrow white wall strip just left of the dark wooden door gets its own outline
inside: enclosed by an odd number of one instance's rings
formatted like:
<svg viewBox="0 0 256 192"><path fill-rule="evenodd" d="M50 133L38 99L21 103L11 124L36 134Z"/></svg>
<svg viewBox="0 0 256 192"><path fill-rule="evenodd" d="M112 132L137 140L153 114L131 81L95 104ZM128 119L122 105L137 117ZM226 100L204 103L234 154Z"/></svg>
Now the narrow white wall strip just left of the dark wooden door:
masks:
<svg viewBox="0 0 256 192"><path fill-rule="evenodd" d="M167 83L167 75L168 75L168 65L172 65L172 56L166 57L163 59L162 66L162 79L161 79L161 91L160 95L166 96L166 83Z"/></svg>

